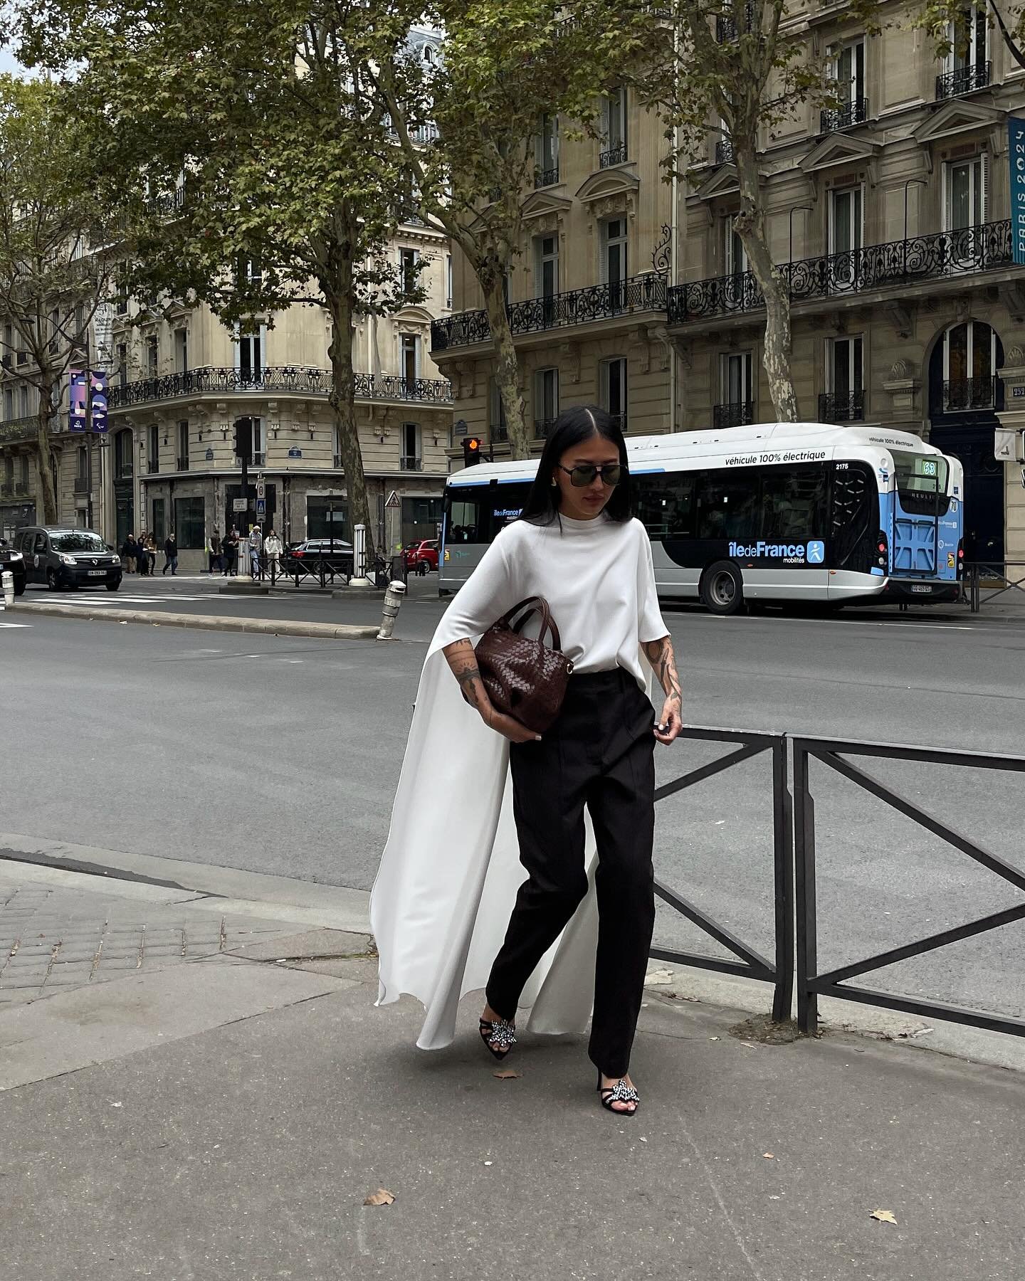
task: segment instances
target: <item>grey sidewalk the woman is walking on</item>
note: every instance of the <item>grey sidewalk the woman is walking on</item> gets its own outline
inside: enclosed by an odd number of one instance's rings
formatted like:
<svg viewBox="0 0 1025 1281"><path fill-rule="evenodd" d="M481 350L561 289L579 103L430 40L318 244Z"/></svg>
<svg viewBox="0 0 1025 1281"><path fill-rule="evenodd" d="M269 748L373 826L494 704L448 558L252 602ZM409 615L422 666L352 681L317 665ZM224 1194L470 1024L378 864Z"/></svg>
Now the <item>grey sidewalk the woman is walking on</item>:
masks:
<svg viewBox="0 0 1025 1281"><path fill-rule="evenodd" d="M496 1079L473 998L450 1049L416 1050L419 1006L373 1008L369 938L310 929L310 889L0 862L6 1276L1020 1276L1017 1073L765 1044L651 990L620 1121L577 1038L523 1035ZM378 1187L395 1203L365 1207Z"/></svg>

